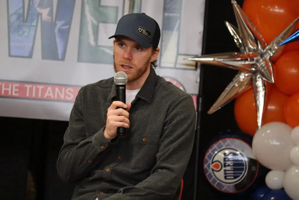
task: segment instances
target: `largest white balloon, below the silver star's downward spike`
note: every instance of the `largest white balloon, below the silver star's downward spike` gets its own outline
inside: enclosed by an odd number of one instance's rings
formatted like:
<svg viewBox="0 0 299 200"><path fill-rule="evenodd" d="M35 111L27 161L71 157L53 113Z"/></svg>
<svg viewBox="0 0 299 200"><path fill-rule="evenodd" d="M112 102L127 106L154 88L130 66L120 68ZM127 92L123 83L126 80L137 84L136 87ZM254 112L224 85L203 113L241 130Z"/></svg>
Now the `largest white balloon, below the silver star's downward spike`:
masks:
<svg viewBox="0 0 299 200"><path fill-rule="evenodd" d="M291 140L291 131L292 128L282 122L263 125L252 140L256 159L269 169L286 171L292 165L290 152L295 146Z"/></svg>

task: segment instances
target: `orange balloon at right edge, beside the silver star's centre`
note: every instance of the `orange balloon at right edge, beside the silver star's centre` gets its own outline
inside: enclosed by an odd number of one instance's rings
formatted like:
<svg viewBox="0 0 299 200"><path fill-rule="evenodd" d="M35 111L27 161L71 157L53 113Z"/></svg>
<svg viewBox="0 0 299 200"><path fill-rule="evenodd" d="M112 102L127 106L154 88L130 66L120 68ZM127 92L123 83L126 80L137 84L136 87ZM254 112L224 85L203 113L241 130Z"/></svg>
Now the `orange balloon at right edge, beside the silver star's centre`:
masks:
<svg viewBox="0 0 299 200"><path fill-rule="evenodd" d="M275 63L275 85L285 94L299 92L299 51L289 51Z"/></svg>

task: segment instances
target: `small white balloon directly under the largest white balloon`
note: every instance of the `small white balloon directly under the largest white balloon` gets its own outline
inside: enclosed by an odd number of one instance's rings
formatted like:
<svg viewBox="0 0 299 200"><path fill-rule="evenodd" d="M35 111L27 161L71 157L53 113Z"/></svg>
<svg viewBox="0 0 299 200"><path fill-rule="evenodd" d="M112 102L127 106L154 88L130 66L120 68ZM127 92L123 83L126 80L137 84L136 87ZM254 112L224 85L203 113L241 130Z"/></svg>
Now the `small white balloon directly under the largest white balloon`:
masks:
<svg viewBox="0 0 299 200"><path fill-rule="evenodd" d="M267 187L271 190L279 190L283 188L284 171L272 170L266 175L265 181Z"/></svg>

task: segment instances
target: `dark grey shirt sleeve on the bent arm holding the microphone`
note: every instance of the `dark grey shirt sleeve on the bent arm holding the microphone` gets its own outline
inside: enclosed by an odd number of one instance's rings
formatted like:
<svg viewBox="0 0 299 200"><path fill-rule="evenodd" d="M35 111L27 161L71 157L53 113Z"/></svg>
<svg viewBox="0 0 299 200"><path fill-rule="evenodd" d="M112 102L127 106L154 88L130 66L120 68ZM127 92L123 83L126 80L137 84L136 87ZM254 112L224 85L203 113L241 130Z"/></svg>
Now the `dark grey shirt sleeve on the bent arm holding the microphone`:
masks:
<svg viewBox="0 0 299 200"><path fill-rule="evenodd" d="M80 90L71 110L57 160L57 172L62 181L81 180L109 154L117 141L108 142L104 130L105 127L92 136L86 135Z"/></svg>

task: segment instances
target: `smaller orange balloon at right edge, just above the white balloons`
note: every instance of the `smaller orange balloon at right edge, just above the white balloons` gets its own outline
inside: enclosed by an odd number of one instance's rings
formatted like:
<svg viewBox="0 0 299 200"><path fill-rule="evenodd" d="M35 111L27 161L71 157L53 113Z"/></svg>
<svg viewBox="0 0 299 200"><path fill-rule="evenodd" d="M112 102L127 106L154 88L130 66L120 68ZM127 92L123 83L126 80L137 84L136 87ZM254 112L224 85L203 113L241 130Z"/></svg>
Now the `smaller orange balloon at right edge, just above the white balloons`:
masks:
<svg viewBox="0 0 299 200"><path fill-rule="evenodd" d="M286 123L292 128L299 126L299 93L293 94L286 101L284 116Z"/></svg>

